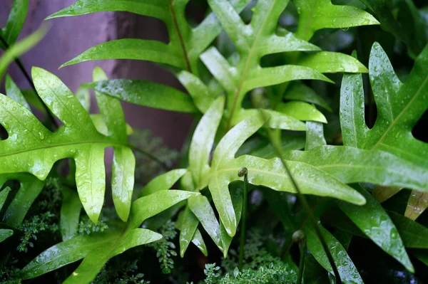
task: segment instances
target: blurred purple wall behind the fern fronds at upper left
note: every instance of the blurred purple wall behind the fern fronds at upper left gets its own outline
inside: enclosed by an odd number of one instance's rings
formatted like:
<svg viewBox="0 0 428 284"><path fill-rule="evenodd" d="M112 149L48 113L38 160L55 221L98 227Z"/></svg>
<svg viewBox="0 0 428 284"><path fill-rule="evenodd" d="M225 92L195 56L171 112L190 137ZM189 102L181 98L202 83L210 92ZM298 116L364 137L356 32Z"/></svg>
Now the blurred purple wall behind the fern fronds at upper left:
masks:
<svg viewBox="0 0 428 284"><path fill-rule="evenodd" d="M44 18L72 4L75 0L30 0L29 13L20 38L35 31ZM145 0L141 0L145 1ZM12 0L0 0L0 26L4 26ZM145 61L90 61L58 66L78 56L91 46L116 38L147 38L168 42L165 24L157 19L129 13L103 12L78 17L45 21L50 29L46 37L29 53L21 57L26 70L38 66L58 75L73 92L81 83L91 81L92 70L101 66L109 78L151 80L157 83L183 87L175 77L153 63ZM12 65L9 74L20 88L29 88L19 68ZM123 103L126 120L133 127L148 128L153 135L163 138L166 145L179 149L187 135L192 117L177 112L154 110ZM98 112L93 101L93 111Z"/></svg>

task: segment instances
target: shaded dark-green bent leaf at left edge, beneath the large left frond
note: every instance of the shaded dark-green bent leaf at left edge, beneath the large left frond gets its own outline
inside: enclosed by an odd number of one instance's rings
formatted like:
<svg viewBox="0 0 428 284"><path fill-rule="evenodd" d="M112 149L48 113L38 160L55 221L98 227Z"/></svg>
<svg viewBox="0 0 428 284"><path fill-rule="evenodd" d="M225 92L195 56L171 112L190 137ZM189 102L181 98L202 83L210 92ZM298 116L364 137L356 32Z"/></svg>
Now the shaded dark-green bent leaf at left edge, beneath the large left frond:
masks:
<svg viewBox="0 0 428 284"><path fill-rule="evenodd" d="M1 143L1 142L0 142ZM18 179L20 183L19 191L9 204L3 216L6 225L19 228L29 211L31 204L36 200L44 187L44 182L30 174L0 174L0 179ZM1 183L0 183L1 184Z"/></svg>

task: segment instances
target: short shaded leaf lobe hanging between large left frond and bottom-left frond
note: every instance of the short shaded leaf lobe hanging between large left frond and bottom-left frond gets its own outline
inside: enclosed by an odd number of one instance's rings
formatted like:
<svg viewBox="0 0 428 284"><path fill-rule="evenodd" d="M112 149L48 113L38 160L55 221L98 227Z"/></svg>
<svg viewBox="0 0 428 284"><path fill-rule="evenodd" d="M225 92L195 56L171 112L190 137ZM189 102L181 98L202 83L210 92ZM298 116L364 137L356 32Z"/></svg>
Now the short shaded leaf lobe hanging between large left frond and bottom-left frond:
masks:
<svg viewBox="0 0 428 284"><path fill-rule="evenodd" d="M62 192L63 199L59 226L63 241L67 241L77 235L82 206L76 191L63 186Z"/></svg>

